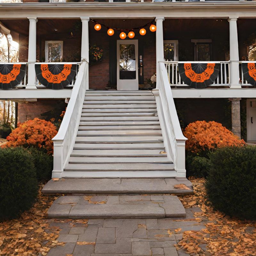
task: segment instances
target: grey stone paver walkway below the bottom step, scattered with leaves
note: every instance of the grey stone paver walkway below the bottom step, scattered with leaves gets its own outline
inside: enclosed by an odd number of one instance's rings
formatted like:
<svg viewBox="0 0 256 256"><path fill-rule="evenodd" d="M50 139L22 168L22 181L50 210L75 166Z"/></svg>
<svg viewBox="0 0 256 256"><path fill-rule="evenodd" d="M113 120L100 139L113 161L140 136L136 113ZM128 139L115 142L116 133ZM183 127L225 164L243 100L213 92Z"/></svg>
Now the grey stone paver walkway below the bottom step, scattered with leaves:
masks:
<svg viewBox="0 0 256 256"><path fill-rule="evenodd" d="M57 246L47 256L188 256L174 244L182 232L205 228L197 221L198 207L186 209L186 219L89 219L87 224L52 222L60 228Z"/></svg>

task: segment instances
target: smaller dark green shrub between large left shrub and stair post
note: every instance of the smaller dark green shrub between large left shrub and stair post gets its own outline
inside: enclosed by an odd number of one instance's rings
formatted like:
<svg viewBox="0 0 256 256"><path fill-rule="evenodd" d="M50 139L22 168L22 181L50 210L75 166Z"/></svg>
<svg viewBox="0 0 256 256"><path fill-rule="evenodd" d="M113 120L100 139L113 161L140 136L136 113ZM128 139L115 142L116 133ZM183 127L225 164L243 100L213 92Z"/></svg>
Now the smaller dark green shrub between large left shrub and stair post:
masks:
<svg viewBox="0 0 256 256"><path fill-rule="evenodd" d="M37 180L51 180L53 170L53 156L48 155L41 150L38 150L37 148L28 148L27 150L34 159Z"/></svg>

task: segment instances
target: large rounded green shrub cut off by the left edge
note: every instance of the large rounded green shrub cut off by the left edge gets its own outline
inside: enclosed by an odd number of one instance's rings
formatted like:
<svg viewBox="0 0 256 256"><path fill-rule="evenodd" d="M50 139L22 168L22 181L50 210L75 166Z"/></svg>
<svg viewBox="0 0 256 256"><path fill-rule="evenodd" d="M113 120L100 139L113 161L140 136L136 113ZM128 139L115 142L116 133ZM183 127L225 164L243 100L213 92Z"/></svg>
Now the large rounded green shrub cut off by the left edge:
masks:
<svg viewBox="0 0 256 256"><path fill-rule="evenodd" d="M24 148L0 148L0 220L19 217L30 209L37 192L31 155Z"/></svg>

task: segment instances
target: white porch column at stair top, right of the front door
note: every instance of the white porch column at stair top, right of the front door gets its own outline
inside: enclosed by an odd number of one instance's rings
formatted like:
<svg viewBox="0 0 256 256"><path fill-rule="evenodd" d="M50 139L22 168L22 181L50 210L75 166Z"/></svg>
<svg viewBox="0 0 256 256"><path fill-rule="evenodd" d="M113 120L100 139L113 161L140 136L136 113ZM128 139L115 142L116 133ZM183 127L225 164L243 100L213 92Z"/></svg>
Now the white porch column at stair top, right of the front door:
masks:
<svg viewBox="0 0 256 256"><path fill-rule="evenodd" d="M163 21L164 17L156 17L156 88L159 88L161 83L158 61L164 60Z"/></svg>

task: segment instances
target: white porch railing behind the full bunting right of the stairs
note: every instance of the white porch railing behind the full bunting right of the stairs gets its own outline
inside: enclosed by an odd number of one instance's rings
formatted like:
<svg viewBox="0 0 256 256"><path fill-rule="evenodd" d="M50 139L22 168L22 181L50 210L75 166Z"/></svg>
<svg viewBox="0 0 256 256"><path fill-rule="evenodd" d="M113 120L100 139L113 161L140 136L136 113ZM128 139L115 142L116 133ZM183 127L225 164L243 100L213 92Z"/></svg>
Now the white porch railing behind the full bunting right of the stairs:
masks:
<svg viewBox="0 0 256 256"><path fill-rule="evenodd" d="M179 63L220 63L220 72L214 83L210 86L230 85L230 62L229 61L164 61L167 75L171 86L188 86L180 78Z"/></svg>

